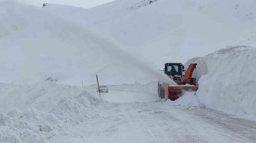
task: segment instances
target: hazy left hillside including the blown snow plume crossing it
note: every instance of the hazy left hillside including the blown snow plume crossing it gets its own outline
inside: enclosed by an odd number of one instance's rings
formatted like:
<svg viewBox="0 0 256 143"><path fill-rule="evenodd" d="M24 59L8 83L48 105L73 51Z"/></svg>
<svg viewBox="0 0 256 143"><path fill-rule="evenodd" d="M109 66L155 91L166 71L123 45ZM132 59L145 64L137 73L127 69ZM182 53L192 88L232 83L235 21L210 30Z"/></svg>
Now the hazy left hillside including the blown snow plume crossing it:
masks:
<svg viewBox="0 0 256 143"><path fill-rule="evenodd" d="M83 24L15 1L3 1L0 7L3 29L16 28L0 38L0 77L5 83L35 84L52 77L69 85L81 85L82 80L92 84L97 73L105 84L166 78Z"/></svg>

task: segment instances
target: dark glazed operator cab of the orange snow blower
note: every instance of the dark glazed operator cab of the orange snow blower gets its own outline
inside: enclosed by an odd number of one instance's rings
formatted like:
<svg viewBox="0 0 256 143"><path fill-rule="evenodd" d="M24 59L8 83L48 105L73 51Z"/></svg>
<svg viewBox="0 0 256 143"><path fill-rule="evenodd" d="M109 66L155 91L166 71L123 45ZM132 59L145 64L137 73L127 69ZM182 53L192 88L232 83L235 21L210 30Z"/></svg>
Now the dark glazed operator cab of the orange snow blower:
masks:
<svg viewBox="0 0 256 143"><path fill-rule="evenodd" d="M183 83L184 65L181 63L165 63L163 72L169 76L178 85Z"/></svg>

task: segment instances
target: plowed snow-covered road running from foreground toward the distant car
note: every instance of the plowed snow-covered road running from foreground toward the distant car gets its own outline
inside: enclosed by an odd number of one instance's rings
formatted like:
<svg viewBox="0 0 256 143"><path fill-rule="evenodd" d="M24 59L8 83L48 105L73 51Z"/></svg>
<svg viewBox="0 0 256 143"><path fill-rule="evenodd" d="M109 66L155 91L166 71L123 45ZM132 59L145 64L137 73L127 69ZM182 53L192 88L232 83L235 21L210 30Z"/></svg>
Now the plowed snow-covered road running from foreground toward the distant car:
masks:
<svg viewBox="0 0 256 143"><path fill-rule="evenodd" d="M152 99L156 95L148 95ZM111 91L100 117L49 139L52 143L255 143L256 122L211 109L182 110L165 102L124 102L142 93ZM124 97L126 96L126 97ZM113 99L114 102L110 102ZM114 100L115 99L115 100ZM122 100L124 99L124 100ZM119 101L119 103L117 102Z"/></svg>

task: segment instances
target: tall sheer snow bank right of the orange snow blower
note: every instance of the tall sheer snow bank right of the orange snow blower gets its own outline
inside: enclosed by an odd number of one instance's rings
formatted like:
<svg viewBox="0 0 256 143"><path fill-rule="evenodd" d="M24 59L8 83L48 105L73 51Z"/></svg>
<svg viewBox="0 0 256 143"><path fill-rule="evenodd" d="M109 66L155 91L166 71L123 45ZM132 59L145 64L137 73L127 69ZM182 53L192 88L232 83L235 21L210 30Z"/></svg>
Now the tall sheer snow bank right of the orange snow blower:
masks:
<svg viewBox="0 0 256 143"><path fill-rule="evenodd" d="M199 100L208 108L256 119L256 48L236 46L190 59L198 63Z"/></svg>

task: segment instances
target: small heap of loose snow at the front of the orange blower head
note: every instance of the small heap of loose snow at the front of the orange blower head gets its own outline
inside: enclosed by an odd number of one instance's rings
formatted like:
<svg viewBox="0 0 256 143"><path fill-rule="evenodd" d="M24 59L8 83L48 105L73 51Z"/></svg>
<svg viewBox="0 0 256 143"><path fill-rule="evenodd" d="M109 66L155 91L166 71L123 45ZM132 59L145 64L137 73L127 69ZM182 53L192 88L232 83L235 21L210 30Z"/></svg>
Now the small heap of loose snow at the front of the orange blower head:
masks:
<svg viewBox="0 0 256 143"><path fill-rule="evenodd" d="M179 99L175 101L167 99L165 103L170 106L179 106L184 110L189 108L205 108L205 105L198 100L196 92L185 92Z"/></svg>

